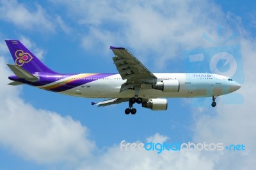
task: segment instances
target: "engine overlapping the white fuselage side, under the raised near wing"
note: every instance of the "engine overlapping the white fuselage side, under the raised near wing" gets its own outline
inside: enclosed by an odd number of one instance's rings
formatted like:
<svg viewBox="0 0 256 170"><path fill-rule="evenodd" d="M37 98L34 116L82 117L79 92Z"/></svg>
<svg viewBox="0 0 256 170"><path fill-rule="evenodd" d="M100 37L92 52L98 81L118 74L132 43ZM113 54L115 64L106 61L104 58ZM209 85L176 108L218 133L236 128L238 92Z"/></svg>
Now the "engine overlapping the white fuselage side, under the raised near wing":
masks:
<svg viewBox="0 0 256 170"><path fill-rule="evenodd" d="M178 80L163 80L152 85L153 89L159 89L163 92L179 92L180 82Z"/></svg>

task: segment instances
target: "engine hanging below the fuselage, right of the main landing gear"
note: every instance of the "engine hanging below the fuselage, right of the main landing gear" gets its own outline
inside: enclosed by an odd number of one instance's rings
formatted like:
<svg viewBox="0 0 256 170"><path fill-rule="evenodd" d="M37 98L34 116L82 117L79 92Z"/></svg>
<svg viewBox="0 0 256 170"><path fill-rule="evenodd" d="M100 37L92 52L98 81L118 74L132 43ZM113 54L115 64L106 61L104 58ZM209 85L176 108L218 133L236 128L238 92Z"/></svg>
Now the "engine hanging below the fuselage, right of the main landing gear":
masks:
<svg viewBox="0 0 256 170"><path fill-rule="evenodd" d="M165 98L152 98L146 102L143 102L142 107L152 109L153 111L166 111L168 103Z"/></svg>

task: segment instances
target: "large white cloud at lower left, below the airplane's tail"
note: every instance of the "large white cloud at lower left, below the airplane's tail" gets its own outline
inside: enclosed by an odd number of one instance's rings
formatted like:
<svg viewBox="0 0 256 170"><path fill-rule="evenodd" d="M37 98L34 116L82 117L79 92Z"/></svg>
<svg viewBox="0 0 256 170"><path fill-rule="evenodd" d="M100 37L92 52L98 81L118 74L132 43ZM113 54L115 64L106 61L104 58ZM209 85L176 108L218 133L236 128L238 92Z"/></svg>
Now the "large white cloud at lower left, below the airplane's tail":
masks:
<svg viewBox="0 0 256 170"><path fill-rule="evenodd" d="M21 88L8 86L7 71L0 57L0 143L13 153L40 164L75 163L95 149L88 128L70 116L36 109L19 97Z"/></svg>

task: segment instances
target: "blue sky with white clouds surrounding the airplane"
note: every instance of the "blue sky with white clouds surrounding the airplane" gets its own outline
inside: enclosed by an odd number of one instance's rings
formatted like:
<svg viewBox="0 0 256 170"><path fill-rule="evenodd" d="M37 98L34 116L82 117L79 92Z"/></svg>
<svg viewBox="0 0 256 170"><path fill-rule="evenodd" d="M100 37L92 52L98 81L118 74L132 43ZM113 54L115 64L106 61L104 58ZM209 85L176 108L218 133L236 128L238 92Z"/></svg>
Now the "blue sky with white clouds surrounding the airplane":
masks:
<svg viewBox="0 0 256 170"><path fill-rule="evenodd" d="M255 7L250 1L0 1L0 169L253 169ZM227 44L202 36L225 40L233 33ZM126 103L95 107L91 102L100 99L7 86L6 63L13 61L5 39L22 41L61 73L116 73L110 45L129 49L152 72L186 72L185 51L236 44L244 102L218 98L211 108L211 98L169 98L167 111L138 106L132 116L124 114ZM209 105L195 107L196 101ZM244 143L246 151L157 155L120 151L122 140Z"/></svg>

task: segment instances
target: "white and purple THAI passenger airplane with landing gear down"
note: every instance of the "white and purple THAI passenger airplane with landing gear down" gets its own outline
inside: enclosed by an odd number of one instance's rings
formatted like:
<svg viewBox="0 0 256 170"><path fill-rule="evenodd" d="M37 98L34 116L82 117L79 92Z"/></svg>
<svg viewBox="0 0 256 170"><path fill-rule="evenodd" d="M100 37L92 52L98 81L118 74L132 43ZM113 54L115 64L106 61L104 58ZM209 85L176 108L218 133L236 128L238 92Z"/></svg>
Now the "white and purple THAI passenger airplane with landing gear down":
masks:
<svg viewBox="0 0 256 170"><path fill-rule="evenodd" d="M7 64L15 75L10 85L28 84L36 88L86 98L109 98L92 105L107 106L128 102L125 114L136 114L133 105L153 111L166 111L165 98L216 97L241 85L214 73L152 73L129 50L110 47L119 73L58 73L45 66L19 40L5 40L15 64Z"/></svg>

